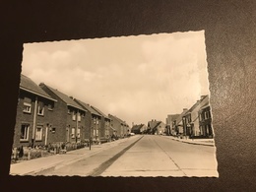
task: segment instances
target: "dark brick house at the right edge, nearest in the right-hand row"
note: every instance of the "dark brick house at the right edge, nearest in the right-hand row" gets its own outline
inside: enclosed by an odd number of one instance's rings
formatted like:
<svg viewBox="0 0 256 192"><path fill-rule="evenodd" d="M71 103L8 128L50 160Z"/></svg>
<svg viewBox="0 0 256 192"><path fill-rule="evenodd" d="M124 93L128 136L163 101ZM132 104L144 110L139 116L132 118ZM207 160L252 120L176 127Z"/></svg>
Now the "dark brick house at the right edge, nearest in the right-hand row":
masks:
<svg viewBox="0 0 256 192"><path fill-rule="evenodd" d="M209 103L202 106L198 111L200 136L203 138L213 138L211 106Z"/></svg>

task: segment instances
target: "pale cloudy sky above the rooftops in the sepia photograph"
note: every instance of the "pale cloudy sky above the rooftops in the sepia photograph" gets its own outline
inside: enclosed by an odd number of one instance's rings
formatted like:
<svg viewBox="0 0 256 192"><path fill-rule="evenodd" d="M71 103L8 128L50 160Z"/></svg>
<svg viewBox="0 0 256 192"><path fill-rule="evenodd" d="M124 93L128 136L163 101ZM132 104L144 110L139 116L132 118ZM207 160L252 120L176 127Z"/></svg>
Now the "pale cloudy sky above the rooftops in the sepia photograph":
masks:
<svg viewBox="0 0 256 192"><path fill-rule="evenodd" d="M209 95L205 32L24 44L22 74L130 126L190 108Z"/></svg>

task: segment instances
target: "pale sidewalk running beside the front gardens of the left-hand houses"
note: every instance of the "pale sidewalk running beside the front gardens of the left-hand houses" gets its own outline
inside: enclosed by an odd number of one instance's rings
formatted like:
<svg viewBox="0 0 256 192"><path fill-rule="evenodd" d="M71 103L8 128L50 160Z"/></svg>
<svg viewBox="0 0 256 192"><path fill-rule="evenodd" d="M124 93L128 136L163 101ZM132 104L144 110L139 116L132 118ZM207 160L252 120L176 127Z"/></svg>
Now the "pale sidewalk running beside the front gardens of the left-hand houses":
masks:
<svg viewBox="0 0 256 192"><path fill-rule="evenodd" d="M91 151L89 147L82 148L79 150L74 150L67 152L66 154L57 154L53 156L25 160L22 162L14 163L10 165L10 174L11 175L31 175L36 172L50 169L50 168L59 168L61 166L71 164L78 160L84 158L89 158L105 149L109 149L113 146L119 145L122 142L127 141L129 138L119 139L114 142L109 142L101 145L93 145Z"/></svg>

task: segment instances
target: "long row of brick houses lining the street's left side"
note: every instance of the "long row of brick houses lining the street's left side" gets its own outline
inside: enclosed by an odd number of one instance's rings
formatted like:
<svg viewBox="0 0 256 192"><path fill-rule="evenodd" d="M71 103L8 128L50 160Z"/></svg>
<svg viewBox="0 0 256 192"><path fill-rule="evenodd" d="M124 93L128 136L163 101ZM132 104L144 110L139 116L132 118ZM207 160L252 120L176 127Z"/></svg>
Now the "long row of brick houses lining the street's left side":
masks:
<svg viewBox="0 0 256 192"><path fill-rule="evenodd" d="M129 125L95 106L21 75L14 148L126 137Z"/></svg>

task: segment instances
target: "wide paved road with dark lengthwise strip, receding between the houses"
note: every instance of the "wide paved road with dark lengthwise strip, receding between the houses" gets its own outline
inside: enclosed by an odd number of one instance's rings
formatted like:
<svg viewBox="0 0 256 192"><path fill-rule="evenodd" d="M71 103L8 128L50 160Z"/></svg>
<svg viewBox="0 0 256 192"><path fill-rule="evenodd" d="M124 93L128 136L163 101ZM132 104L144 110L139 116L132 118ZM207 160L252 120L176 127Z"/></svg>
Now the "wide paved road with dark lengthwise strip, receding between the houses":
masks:
<svg viewBox="0 0 256 192"><path fill-rule="evenodd" d="M134 136L100 153L43 175L218 176L215 148L185 144L168 137Z"/></svg>

